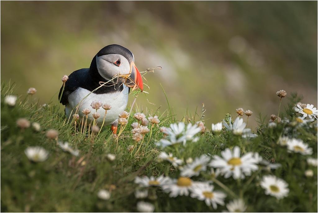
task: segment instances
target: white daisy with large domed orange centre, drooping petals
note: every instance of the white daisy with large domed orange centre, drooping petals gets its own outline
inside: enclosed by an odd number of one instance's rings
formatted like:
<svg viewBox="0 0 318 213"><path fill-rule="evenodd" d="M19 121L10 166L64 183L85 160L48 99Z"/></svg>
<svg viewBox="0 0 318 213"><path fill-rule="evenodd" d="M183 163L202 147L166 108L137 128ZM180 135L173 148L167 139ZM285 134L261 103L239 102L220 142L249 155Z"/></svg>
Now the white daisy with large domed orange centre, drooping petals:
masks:
<svg viewBox="0 0 318 213"><path fill-rule="evenodd" d="M189 195L189 191L196 186L196 183L189 177L179 177L178 179L170 179L166 184L163 184L162 189L170 193L170 197L176 197L178 195Z"/></svg>

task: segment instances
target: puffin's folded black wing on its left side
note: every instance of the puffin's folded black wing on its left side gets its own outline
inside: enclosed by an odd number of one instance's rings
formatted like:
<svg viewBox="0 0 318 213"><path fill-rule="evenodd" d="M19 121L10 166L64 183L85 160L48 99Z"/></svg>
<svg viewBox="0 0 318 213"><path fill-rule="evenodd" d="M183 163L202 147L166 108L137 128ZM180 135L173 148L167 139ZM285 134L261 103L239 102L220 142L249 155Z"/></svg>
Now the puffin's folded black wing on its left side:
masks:
<svg viewBox="0 0 318 213"><path fill-rule="evenodd" d="M85 85L85 81L87 81L89 78L88 70L89 68L79 69L68 76L68 80L65 83L65 88L60 103L66 105L68 103L68 96L77 88ZM62 89L63 86L60 89L59 97L62 93Z"/></svg>

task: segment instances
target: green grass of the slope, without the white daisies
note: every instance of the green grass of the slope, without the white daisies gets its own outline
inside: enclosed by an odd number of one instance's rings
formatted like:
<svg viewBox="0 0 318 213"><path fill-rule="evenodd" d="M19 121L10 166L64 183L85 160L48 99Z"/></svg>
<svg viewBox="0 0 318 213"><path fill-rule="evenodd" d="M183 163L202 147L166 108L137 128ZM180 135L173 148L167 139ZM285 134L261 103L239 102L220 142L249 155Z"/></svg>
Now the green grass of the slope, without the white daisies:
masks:
<svg viewBox="0 0 318 213"><path fill-rule="evenodd" d="M168 113L159 115L159 126L154 126L152 136L145 135L144 146L138 153L130 153L129 145L134 145L131 139L131 126L135 119L132 115L129 123L118 141L112 137L109 126L103 128L98 138L86 137L74 132L72 122L67 123L64 113L54 100L47 106L38 104L37 95L20 96L14 107L3 103L4 96L14 93L10 85L1 88L1 211L2 212L130 212L137 211L134 192L138 185L134 183L136 176L158 176L165 174L172 178L179 176L179 170L168 162L158 162L156 157L161 149L155 145L163 133L159 127L168 127L175 122L173 115ZM283 99L283 102L287 99ZM186 146L166 147L165 151L173 153L180 159L195 158L201 154L220 154L226 147L240 146L243 153L258 152L264 159L282 164L279 169L268 171L266 169L254 172L244 180L234 180L232 177L218 177L235 196L224 191L214 183L216 189L227 194L225 203L235 197L241 197L247 205L246 211L261 212L316 212L317 211L317 167L307 165L308 156L299 153L287 153L285 147L277 145L278 138L283 134L302 139L313 148L311 157L317 157L317 125L308 124L300 127L294 122L295 113L291 107L296 103L297 97L290 98L290 105L282 117L291 122L278 124L275 128L267 128L266 124L259 125L257 138L245 139L223 131L215 135L211 131L198 134L196 143L187 143ZM134 106L132 112L138 109ZM129 107L128 107L128 110ZM207 109L208 110L208 109ZM133 114L132 113L132 114ZM145 115L154 115L153 111L144 111ZM200 114L200 113L198 113ZM185 123L194 123L197 120L184 118ZM24 117L31 123L38 122L40 131L31 127L20 130L16 121ZM249 119L255 119L252 115ZM268 118L269 119L269 118ZM267 118L259 117L267 123ZM245 118L246 122L246 118ZM59 131L58 140L69 142L72 147L80 150L78 157L63 152L56 140L48 139L45 133L49 129ZM150 126L149 126L150 129ZM210 127L207 127L210 130ZM147 143L149 141L149 144ZM29 146L41 146L50 154L44 162L33 163L24 154ZM137 146L138 148L138 146ZM107 159L107 154L116 156L114 161ZM308 168L314 172L313 177L306 177ZM284 179L290 190L288 196L277 200L275 197L264 194L259 187L262 176L274 174ZM207 181L211 177L206 172L193 180ZM109 200L100 200L97 192L100 189L111 191ZM149 188L149 196L145 199L155 206L156 212L210 212L225 210L225 206L218 206L214 210L203 201L190 196L170 198L160 188Z"/></svg>

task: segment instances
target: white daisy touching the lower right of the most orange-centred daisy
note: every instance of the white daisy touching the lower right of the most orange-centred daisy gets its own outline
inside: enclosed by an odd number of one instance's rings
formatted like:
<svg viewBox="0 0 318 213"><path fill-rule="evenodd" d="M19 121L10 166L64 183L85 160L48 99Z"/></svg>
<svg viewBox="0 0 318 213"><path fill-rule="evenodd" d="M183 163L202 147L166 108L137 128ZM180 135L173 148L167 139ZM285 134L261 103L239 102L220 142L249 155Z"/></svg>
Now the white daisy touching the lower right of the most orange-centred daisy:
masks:
<svg viewBox="0 0 318 213"><path fill-rule="evenodd" d="M221 191L214 191L214 186L207 183L197 184L191 191L191 197L204 201L206 205L213 206L213 209L217 209L217 204L224 206L225 193Z"/></svg>

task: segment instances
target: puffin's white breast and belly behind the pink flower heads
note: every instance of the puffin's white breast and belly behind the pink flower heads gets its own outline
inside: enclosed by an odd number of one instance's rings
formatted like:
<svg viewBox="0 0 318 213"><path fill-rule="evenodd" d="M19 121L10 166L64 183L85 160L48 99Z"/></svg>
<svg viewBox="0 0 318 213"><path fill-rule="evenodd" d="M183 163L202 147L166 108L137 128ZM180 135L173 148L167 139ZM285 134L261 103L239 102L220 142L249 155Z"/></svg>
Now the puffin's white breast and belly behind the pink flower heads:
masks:
<svg viewBox="0 0 318 213"><path fill-rule="evenodd" d="M68 96L68 104L66 105L66 111L65 111L67 117L69 117L71 113L72 114L75 113L75 110L76 110L75 108L77 104L89 93L90 91L87 89L78 88ZM118 114L126 109L126 106L128 103L128 87L124 85L124 89L122 91L112 92L112 93L105 93L105 94L91 93L82 103L79 104L78 114L80 117L83 116L82 111L85 108L88 108L91 110L91 113L88 114L88 118L89 119L93 118L92 114L93 112L96 112L96 110L92 109L91 103L95 100L100 100L101 103L103 104L108 103L112 106L110 110L107 110L107 115L105 118L104 125L111 124L118 118ZM72 112L73 108L74 110ZM100 107L100 109L97 110L97 112L100 114L100 117L97 119L98 125L100 126L103 123L105 110L102 107ZM90 122L90 120L87 122Z"/></svg>

